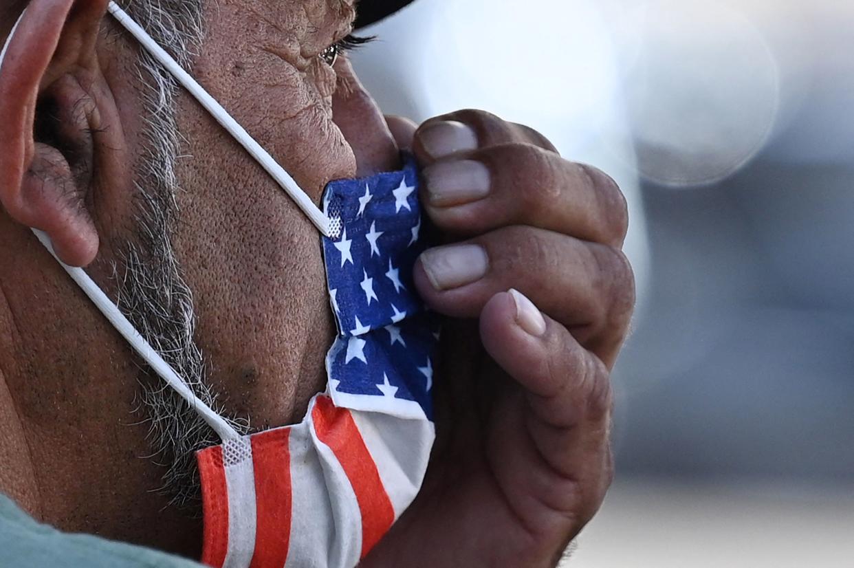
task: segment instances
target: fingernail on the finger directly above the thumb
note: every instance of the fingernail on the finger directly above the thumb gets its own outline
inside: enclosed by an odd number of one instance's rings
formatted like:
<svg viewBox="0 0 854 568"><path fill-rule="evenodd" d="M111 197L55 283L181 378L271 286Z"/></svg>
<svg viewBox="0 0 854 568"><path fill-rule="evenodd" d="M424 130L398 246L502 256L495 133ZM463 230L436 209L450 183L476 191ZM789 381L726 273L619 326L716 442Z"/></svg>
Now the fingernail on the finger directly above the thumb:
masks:
<svg viewBox="0 0 854 568"><path fill-rule="evenodd" d="M489 259L480 245L454 244L425 251L421 255L421 264L430 284L441 292L483 278L489 268Z"/></svg>

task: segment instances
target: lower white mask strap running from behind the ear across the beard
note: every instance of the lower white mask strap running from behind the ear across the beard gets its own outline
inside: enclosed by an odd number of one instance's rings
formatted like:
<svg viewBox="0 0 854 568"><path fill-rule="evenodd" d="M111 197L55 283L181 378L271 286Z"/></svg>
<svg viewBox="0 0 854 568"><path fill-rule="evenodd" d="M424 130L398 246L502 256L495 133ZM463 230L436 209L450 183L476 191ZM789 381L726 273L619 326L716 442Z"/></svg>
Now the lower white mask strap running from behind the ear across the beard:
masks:
<svg viewBox="0 0 854 568"><path fill-rule="evenodd" d="M21 12L18 21L15 22L15 26L13 26L12 31L9 32L9 38L6 39L6 44L3 45L3 50L0 51L0 70L3 69L3 61L6 58L6 51L9 50L9 45L12 44L12 38L15 37L18 25L21 20L24 19L25 14L26 9ZM89 275L86 274L82 268L73 268L72 266L67 266L67 264L60 261L59 257L56 256L56 253L54 252L53 244L50 243L50 237L48 237L44 232L38 231L38 229L32 229L32 232L35 233L38 240L44 244L44 248L48 249L50 255L52 255L56 261L59 262L60 266L65 269L65 272L68 272L68 275L79 285L80 290L83 290L85 295L89 296L89 299L95 304L98 310L103 313L104 317L106 317L111 324L113 324L116 331L119 331L122 337L125 337L127 343L131 344L131 347L143 358L143 360L145 360L145 362L148 363L149 366L151 366L151 368L154 369L154 371L184 399L184 401L187 401L187 404L189 404L196 413L199 413L202 419L204 419L204 421L207 422L214 431L216 431L224 442L225 440L240 437L237 430L234 430L234 428L224 418L213 412L211 407L208 407L207 404L199 400L192 389L190 389L190 387L184 382L184 379L178 377L178 373L175 372L172 366L163 360L160 354L158 354L155 349L145 341L145 338L139 334L131 322L129 322L119 311L119 308L116 307L116 305L107 297L106 294L103 293L98 285L89 278Z"/></svg>

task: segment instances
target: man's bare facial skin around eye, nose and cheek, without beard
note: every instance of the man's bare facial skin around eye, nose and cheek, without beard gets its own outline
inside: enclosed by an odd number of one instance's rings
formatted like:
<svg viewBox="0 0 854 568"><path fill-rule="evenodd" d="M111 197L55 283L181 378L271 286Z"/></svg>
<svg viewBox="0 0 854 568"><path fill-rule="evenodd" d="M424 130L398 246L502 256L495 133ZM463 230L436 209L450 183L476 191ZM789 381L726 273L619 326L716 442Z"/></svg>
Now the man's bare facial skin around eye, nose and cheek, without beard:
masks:
<svg viewBox="0 0 854 568"><path fill-rule="evenodd" d="M196 79L315 202L330 179L395 166L382 116L348 63L333 70L319 57L353 17L349 0L220 2L205 11L194 61ZM333 93L345 82L333 116ZM184 191L174 240L210 383L255 428L298 421L325 384L332 333L319 234L194 99L182 91L178 101L192 158L178 161ZM337 120L354 145L384 151L357 164Z"/></svg>

